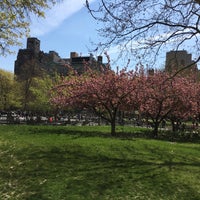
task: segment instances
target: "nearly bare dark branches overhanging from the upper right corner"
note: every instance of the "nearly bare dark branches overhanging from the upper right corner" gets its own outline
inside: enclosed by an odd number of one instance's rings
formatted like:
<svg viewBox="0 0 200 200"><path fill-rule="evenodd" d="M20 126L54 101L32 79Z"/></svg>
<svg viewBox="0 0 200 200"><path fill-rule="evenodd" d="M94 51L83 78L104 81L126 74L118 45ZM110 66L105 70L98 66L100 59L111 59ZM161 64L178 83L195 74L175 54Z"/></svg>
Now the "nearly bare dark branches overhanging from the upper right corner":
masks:
<svg viewBox="0 0 200 200"><path fill-rule="evenodd" d="M91 15L103 26L99 33L102 48L118 46L141 57L194 44L200 49L200 5L198 0L100 0L95 7L86 0Z"/></svg>

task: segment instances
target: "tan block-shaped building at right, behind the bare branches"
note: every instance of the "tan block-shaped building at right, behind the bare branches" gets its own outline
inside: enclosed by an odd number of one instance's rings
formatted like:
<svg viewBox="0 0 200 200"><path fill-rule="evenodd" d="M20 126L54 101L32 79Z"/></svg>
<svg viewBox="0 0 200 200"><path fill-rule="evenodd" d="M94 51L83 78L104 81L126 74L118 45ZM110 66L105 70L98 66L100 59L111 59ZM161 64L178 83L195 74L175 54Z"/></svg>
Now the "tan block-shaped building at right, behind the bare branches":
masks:
<svg viewBox="0 0 200 200"><path fill-rule="evenodd" d="M192 54L188 54L185 50L167 52L165 71L172 73L181 69L184 69L181 72L183 75L198 74L197 64L192 60Z"/></svg>

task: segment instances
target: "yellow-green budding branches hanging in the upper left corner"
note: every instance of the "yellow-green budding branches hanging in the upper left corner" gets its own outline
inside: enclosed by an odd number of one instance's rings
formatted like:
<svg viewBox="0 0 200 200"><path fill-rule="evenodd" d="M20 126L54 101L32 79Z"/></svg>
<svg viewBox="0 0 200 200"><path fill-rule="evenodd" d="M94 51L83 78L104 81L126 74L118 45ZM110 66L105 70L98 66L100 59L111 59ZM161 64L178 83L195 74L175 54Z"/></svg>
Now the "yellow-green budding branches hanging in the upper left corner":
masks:
<svg viewBox="0 0 200 200"><path fill-rule="evenodd" d="M0 1L0 55L10 52L10 46L19 45L19 38L29 33L30 15L44 17L44 10L56 0L2 0Z"/></svg>

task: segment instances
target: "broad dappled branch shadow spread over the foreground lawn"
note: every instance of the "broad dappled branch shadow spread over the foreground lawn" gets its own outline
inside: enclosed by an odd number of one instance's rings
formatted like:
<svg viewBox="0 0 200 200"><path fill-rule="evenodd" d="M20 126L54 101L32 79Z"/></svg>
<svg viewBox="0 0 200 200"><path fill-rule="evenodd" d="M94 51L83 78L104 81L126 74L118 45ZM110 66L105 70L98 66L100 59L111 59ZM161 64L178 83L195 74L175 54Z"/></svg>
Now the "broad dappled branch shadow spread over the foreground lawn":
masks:
<svg viewBox="0 0 200 200"><path fill-rule="evenodd" d="M128 148L129 158L82 146L7 151L1 161L1 195L14 194L21 200L200 198L199 160L174 161L170 153L163 155L158 149L152 155L145 153L150 149L144 150Z"/></svg>

